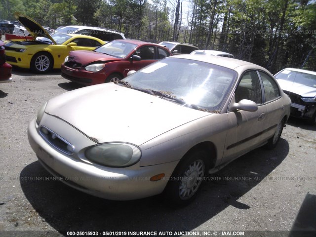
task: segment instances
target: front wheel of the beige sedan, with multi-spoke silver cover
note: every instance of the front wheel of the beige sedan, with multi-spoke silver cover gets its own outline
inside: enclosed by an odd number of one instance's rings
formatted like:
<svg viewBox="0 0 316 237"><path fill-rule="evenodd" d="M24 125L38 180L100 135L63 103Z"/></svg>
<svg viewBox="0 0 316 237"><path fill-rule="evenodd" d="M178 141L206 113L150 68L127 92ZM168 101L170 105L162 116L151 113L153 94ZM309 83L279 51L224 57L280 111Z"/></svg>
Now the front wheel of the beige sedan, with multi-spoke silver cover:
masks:
<svg viewBox="0 0 316 237"><path fill-rule="evenodd" d="M183 157L164 190L165 201L172 207L189 204L197 197L209 162L204 151L195 150Z"/></svg>

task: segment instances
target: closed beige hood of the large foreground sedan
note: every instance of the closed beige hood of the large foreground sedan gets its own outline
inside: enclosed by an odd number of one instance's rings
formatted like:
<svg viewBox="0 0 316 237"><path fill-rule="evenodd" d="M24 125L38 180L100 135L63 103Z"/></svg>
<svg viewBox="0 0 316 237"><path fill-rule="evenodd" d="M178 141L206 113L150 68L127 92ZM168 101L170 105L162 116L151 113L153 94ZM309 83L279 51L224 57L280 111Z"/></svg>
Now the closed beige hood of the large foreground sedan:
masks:
<svg viewBox="0 0 316 237"><path fill-rule="evenodd" d="M210 115L115 83L57 96L49 100L45 113L65 120L98 143L120 141L138 146Z"/></svg>

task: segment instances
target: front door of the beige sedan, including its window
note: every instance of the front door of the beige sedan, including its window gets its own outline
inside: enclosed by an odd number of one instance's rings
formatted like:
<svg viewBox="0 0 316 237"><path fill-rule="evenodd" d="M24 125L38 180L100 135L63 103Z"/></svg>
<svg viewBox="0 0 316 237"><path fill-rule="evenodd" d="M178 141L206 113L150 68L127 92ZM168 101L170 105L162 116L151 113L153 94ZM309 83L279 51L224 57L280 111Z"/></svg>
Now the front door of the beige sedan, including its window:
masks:
<svg viewBox="0 0 316 237"><path fill-rule="evenodd" d="M255 70L247 71L242 76L235 90L235 101L242 99L254 101L258 110L229 111L229 130L227 133L223 162L241 156L258 146L262 141L263 123L265 123L265 105L263 91ZM231 101L234 103L235 101Z"/></svg>

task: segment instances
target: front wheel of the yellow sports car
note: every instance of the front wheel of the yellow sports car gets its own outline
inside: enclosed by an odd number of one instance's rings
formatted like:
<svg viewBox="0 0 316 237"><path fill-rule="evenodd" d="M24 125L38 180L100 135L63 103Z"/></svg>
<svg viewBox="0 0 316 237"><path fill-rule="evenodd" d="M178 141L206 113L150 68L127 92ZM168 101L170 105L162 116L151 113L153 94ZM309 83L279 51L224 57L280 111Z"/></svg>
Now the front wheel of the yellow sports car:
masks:
<svg viewBox="0 0 316 237"><path fill-rule="evenodd" d="M53 58L49 53L39 52L31 60L31 70L35 73L47 73L53 68Z"/></svg>

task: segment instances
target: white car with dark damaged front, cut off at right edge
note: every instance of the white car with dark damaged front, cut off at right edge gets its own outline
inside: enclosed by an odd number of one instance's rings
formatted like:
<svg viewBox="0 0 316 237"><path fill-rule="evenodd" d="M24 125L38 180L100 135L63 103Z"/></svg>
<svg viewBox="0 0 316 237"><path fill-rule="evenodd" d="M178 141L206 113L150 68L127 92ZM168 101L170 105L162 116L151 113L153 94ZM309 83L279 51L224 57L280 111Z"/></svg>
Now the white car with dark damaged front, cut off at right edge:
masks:
<svg viewBox="0 0 316 237"><path fill-rule="evenodd" d="M316 124L316 72L285 68L275 75L291 100L291 116Z"/></svg>

